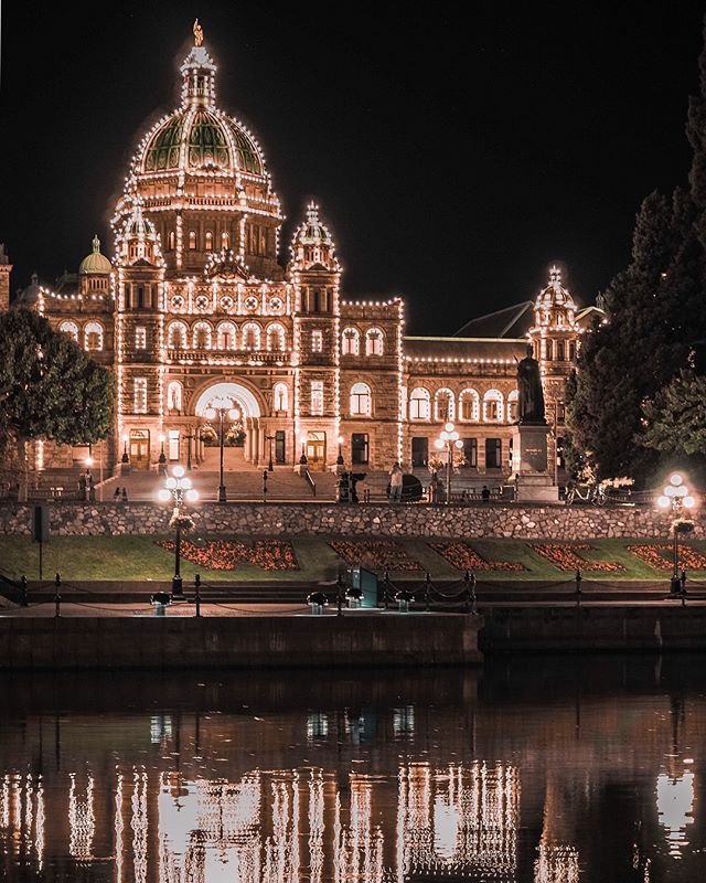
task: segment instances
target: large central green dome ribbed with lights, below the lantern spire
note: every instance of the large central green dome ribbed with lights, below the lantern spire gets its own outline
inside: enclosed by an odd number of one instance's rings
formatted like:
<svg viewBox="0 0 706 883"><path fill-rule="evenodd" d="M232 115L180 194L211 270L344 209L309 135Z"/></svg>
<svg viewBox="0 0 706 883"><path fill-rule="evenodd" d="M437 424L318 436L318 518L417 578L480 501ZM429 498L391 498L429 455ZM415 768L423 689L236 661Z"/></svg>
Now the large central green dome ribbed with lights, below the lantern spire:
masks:
<svg viewBox="0 0 706 883"><path fill-rule="evenodd" d="M265 174L265 161L253 136L235 119L205 107L178 110L148 140L139 168L143 172L196 171Z"/></svg>

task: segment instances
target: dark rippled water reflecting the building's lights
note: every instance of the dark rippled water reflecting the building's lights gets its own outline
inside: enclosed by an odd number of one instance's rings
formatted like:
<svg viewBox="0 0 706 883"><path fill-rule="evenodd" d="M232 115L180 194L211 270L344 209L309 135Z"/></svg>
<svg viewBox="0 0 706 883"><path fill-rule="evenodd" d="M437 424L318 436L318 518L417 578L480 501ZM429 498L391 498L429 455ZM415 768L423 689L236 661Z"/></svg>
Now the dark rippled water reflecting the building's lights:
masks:
<svg viewBox="0 0 706 883"><path fill-rule="evenodd" d="M706 657L0 677L0 880L706 880Z"/></svg>

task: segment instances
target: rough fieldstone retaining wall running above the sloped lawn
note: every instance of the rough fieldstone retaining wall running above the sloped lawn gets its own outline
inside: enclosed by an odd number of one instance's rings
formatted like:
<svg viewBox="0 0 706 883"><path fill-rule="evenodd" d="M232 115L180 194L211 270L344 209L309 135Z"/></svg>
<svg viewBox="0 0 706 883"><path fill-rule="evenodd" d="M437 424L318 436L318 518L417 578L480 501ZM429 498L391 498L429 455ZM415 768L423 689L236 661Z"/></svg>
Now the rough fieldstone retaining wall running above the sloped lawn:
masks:
<svg viewBox="0 0 706 883"><path fill-rule="evenodd" d="M54 535L169 534L171 510L149 502L49 504ZM199 535L448 536L513 540L659 539L671 519L651 507L391 506L335 503L202 503L188 510ZM31 504L0 504L0 533L32 533ZM695 518L694 539L704 538Z"/></svg>

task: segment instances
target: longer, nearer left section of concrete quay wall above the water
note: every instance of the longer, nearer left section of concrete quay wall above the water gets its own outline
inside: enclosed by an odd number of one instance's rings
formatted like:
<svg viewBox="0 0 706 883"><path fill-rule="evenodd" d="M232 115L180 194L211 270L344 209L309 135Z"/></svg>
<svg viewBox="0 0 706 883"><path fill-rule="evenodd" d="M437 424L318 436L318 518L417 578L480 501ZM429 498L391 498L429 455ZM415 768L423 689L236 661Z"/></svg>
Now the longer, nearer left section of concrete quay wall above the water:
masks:
<svg viewBox="0 0 706 883"><path fill-rule="evenodd" d="M0 618L0 671L478 664L481 617Z"/></svg>

